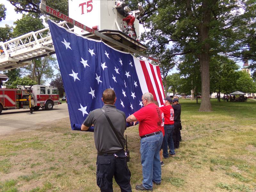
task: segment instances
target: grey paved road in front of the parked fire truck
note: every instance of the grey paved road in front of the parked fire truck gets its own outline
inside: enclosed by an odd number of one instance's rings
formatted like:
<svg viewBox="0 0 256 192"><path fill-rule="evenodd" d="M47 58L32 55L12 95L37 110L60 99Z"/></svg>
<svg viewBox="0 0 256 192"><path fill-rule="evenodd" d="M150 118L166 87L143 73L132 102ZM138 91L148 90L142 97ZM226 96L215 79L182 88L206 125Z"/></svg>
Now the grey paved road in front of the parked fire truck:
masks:
<svg viewBox="0 0 256 192"><path fill-rule="evenodd" d="M29 109L15 109L2 111L0 115L0 136L10 134L12 132L36 129L54 120L68 117L68 105L53 106L51 111L39 109L29 114Z"/></svg>

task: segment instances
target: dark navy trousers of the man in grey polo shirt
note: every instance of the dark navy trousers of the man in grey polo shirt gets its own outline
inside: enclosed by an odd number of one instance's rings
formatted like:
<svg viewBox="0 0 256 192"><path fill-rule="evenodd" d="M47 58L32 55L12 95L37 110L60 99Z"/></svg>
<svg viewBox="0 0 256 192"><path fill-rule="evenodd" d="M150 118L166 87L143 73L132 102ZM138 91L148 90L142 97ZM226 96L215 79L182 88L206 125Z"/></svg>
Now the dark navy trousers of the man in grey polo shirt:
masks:
<svg viewBox="0 0 256 192"><path fill-rule="evenodd" d="M114 155L97 156L97 185L101 192L113 192L113 176L119 185L121 192L131 192L131 172L128 169L124 152Z"/></svg>

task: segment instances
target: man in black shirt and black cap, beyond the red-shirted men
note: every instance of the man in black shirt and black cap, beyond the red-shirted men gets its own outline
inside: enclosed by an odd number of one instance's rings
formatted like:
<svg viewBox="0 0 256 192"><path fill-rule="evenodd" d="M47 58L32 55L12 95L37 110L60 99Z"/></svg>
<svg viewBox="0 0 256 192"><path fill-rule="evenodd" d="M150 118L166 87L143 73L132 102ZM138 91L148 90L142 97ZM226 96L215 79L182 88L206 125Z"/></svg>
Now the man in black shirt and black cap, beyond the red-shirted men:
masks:
<svg viewBox="0 0 256 192"><path fill-rule="evenodd" d="M174 148L180 148L180 113L181 106L179 103L179 98L173 98L172 108L174 110L174 131L173 131L173 144Z"/></svg>

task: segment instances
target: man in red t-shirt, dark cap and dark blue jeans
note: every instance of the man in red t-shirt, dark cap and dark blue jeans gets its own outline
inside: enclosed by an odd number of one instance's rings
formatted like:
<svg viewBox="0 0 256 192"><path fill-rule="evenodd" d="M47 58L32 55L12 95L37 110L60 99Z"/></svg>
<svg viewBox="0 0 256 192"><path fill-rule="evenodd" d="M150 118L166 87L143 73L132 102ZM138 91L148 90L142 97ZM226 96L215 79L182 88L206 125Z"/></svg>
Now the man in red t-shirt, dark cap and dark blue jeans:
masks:
<svg viewBox="0 0 256 192"><path fill-rule="evenodd" d="M163 156L164 158L168 158L169 156L174 157L174 145L172 140L172 132L174 130L174 110L172 108L172 98L166 97L164 99L164 106L160 107L160 109L164 112L164 148L163 148ZM169 153L168 148L169 146Z"/></svg>

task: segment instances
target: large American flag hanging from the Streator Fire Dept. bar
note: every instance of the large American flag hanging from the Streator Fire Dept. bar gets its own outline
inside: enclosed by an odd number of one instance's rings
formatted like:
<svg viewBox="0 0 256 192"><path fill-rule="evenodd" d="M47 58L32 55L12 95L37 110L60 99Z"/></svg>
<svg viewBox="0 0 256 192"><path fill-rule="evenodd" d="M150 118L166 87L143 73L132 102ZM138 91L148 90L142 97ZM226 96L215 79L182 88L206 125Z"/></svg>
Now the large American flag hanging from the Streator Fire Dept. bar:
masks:
<svg viewBox="0 0 256 192"><path fill-rule="evenodd" d="M118 51L102 41L77 35L48 20L67 100L72 129L88 114L101 108L102 92L116 92L116 108L126 116L143 107L141 97L151 92L164 104L158 66Z"/></svg>

